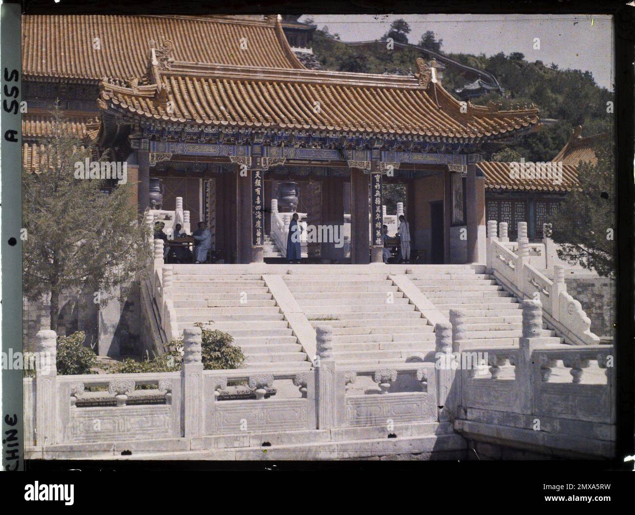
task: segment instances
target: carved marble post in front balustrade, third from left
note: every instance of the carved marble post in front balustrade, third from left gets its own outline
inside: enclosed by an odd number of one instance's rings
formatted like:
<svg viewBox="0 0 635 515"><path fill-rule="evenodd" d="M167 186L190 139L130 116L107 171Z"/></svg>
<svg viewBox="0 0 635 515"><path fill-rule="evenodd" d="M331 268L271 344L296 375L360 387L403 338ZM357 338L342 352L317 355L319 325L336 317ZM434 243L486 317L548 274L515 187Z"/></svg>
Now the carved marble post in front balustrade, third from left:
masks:
<svg viewBox="0 0 635 515"><path fill-rule="evenodd" d="M335 360L333 359L333 328L316 327L316 352L314 359L316 387L314 389L318 429L335 427ZM342 390L342 393L344 390Z"/></svg>

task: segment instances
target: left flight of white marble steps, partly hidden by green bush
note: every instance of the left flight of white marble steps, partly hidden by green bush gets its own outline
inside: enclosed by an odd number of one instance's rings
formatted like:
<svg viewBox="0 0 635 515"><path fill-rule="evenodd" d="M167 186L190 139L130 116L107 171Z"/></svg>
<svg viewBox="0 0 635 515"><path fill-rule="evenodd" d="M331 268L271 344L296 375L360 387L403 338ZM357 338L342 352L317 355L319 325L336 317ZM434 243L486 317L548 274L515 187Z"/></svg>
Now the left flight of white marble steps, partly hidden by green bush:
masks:
<svg viewBox="0 0 635 515"><path fill-rule="evenodd" d="M183 273L173 276L178 330L196 322L229 333L243 349L245 366L309 369L311 362L261 274Z"/></svg>

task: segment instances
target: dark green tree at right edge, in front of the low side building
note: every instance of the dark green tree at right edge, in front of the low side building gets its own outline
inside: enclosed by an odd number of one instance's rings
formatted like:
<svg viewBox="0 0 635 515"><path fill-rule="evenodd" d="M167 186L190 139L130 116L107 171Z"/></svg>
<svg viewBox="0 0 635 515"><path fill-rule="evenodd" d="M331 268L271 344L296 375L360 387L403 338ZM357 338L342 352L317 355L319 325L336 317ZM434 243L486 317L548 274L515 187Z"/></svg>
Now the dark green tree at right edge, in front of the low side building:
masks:
<svg viewBox="0 0 635 515"><path fill-rule="evenodd" d="M615 271L615 166L613 145L598 146L598 163L578 165L579 187L572 189L558 214L549 218L558 257L572 265L612 276Z"/></svg>

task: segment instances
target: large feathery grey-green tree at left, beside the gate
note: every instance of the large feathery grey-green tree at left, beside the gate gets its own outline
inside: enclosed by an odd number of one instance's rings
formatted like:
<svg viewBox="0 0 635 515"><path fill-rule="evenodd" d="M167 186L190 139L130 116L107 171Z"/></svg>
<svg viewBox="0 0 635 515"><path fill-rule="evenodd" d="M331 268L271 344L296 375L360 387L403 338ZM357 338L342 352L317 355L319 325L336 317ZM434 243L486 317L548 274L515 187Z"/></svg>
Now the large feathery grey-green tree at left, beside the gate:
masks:
<svg viewBox="0 0 635 515"><path fill-rule="evenodd" d="M76 178L76 163L93 161L95 149L65 130L57 109L53 134L43 141L39 173L22 170L22 248L24 293L32 300L50 293L55 331L62 292L88 288L105 300L114 288L125 291L151 255L149 227L133 202L137 185L106 194L103 180Z"/></svg>

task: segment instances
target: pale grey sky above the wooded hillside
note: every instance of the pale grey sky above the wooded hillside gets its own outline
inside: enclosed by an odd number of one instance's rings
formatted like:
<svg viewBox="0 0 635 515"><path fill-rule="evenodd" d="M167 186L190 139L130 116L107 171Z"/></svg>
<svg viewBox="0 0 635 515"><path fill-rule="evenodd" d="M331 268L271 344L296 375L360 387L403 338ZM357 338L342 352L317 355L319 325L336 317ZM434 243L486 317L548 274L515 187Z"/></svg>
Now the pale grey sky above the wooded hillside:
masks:
<svg viewBox="0 0 635 515"><path fill-rule="evenodd" d="M328 26L342 41L378 39L403 18L410 25L410 43L432 30L443 39L444 53L521 52L530 62L588 70L599 86L613 90L613 23L607 15L304 15L300 21L307 18L318 29ZM540 38L538 50L535 37Z"/></svg>

